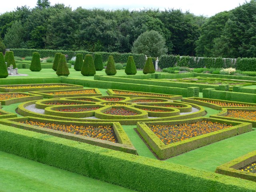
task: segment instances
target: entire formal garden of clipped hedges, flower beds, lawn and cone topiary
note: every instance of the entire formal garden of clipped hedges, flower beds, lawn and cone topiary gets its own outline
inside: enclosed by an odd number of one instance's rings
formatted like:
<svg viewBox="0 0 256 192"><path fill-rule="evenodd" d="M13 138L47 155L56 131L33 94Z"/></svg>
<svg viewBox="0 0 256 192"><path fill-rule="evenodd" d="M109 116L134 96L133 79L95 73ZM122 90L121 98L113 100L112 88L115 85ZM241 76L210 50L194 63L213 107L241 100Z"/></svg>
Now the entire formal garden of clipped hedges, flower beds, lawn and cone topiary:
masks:
<svg viewBox="0 0 256 192"><path fill-rule="evenodd" d="M256 191L256 77L234 75L250 71L243 59L222 60L233 74L214 74L196 58L37 50L18 61L31 51L12 51L0 54L8 189L63 191L72 177L67 191Z"/></svg>

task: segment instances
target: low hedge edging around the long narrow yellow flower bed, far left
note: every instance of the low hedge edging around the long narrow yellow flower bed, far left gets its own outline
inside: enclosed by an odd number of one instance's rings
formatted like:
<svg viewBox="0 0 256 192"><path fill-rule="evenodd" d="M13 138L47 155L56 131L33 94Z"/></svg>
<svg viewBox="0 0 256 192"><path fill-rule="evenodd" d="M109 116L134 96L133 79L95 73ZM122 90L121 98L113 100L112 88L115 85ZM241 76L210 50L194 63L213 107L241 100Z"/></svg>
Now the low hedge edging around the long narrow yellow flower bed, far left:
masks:
<svg viewBox="0 0 256 192"><path fill-rule="evenodd" d="M6 88L6 87L16 87L16 86L51 86L60 85L62 87L42 87L42 88ZM61 89L82 89L81 85L72 85L64 83L45 83L45 84L16 84L16 85L0 85L0 92L29 92L29 91L44 91L44 90L61 90Z"/></svg>

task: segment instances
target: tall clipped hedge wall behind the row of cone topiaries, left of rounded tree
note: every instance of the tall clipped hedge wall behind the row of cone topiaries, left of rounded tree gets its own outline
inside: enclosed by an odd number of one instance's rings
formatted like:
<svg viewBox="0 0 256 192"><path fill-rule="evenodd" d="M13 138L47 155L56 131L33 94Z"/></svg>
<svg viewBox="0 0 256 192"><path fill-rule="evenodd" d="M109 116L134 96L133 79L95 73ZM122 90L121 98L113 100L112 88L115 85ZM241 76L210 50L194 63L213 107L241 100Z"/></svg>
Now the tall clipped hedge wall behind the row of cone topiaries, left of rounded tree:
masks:
<svg viewBox="0 0 256 192"><path fill-rule="evenodd" d="M47 49L11 49L11 51L14 52L14 56L18 57L25 57L25 56L31 56L33 52L38 52L42 58L52 56L54 57L55 53L62 53L67 55L67 60L70 60L72 57L76 56L77 53L82 53L84 56L86 54L92 54L94 56L94 52L88 52L88 51L71 51L71 50L47 50ZM103 62L108 60L108 56L112 55L114 57L114 60L116 63L126 63L129 56L133 56L134 62L136 64L137 68L143 68L146 56L144 54L133 54L133 53L118 53L118 52L97 52L102 55Z"/></svg>

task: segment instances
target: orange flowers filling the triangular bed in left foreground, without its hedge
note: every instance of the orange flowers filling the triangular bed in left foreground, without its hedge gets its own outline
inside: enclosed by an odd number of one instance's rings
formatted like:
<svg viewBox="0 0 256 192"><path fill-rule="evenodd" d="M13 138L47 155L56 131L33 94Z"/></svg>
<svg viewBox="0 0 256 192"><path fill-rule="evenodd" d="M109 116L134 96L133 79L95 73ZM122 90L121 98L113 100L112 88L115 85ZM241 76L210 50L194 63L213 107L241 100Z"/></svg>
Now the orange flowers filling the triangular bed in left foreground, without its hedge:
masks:
<svg viewBox="0 0 256 192"><path fill-rule="evenodd" d="M58 130L66 133L72 133L76 135L87 136L91 138L97 138L101 140L107 140L113 143L118 142L116 134L112 126L76 126L76 125L58 125L51 123L26 121L20 122L24 124L34 125L42 128L48 128L52 130Z"/></svg>

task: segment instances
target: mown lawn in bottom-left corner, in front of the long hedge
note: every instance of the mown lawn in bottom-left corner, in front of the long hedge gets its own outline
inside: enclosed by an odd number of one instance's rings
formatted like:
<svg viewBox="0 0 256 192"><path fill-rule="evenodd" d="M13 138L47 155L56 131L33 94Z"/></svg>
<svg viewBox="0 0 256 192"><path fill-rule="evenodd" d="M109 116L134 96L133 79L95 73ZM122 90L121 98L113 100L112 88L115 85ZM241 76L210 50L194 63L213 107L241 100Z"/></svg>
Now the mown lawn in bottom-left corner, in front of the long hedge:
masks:
<svg viewBox="0 0 256 192"><path fill-rule="evenodd" d="M1 192L134 191L0 151Z"/></svg>

